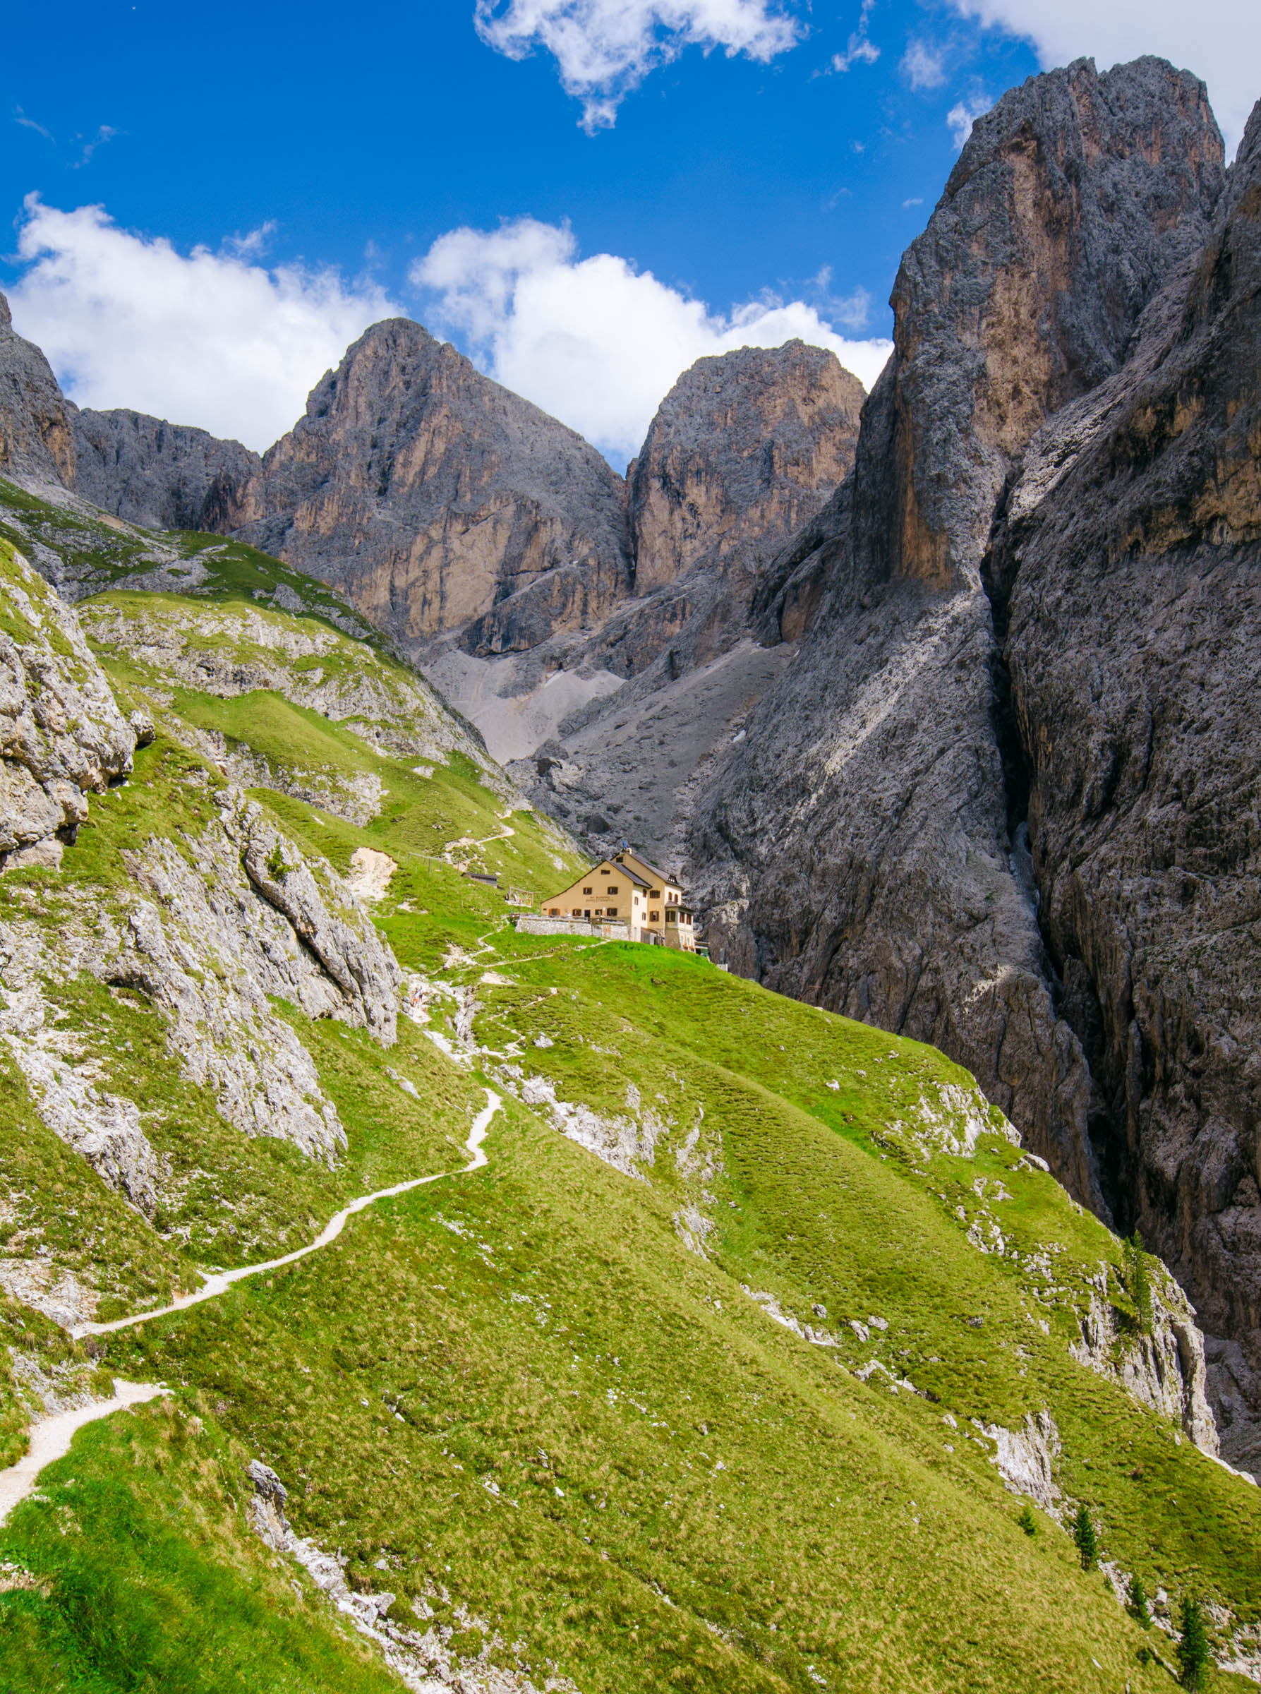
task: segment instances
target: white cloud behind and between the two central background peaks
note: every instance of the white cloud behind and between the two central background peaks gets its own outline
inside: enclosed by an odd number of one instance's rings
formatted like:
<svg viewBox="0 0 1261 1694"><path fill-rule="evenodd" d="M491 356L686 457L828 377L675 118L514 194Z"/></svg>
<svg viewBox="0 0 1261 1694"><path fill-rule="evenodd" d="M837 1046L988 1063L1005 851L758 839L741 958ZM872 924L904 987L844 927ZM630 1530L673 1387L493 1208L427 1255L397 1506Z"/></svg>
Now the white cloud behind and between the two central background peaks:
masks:
<svg viewBox="0 0 1261 1694"><path fill-rule="evenodd" d="M870 388L892 347L838 335L801 300L713 312L611 252L581 259L569 229L533 219L442 235L411 281L428 291L435 329L613 459L638 452L675 378L706 354L801 337Z"/></svg>

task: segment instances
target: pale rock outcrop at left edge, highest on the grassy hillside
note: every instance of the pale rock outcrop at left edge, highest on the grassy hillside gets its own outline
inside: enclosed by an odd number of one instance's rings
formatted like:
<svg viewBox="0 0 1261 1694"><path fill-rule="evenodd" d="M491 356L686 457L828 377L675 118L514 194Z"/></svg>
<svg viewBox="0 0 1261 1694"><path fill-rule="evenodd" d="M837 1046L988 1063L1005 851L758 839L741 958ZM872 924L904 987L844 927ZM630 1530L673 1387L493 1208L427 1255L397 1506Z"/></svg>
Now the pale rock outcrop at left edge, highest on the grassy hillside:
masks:
<svg viewBox="0 0 1261 1694"><path fill-rule="evenodd" d="M134 749L74 613L0 539L0 869L56 864Z"/></svg>

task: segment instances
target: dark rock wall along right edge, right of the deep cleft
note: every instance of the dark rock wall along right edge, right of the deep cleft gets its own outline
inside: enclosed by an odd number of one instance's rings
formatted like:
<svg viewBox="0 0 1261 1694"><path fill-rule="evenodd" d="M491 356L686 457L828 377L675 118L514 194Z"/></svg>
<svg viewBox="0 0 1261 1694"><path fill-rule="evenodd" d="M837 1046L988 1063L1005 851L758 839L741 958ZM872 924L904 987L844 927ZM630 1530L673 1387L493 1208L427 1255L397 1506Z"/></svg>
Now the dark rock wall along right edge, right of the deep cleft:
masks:
<svg viewBox="0 0 1261 1694"><path fill-rule="evenodd" d="M1202 254L1032 440L987 564L1043 928L1126 1226L1261 1467L1261 107ZM1212 1340L1212 1337L1219 1340Z"/></svg>

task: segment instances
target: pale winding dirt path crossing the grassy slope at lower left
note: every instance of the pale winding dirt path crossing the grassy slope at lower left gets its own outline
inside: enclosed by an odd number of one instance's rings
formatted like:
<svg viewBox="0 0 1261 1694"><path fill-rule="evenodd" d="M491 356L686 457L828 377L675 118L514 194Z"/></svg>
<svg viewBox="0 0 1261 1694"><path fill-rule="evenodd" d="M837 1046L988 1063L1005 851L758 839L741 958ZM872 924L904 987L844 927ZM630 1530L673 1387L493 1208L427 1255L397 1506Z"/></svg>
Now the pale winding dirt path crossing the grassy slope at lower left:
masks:
<svg viewBox="0 0 1261 1694"><path fill-rule="evenodd" d="M342 1206L333 1216L325 1223L323 1230L308 1242L306 1247L300 1247L293 1254L284 1254L283 1259L267 1259L264 1264L257 1265L240 1265L237 1270L220 1270L213 1276L206 1276L203 1286L196 1289L195 1294L183 1294L179 1299L171 1301L169 1306L159 1306L156 1311L140 1311L130 1318L115 1318L113 1323L81 1323L78 1328L71 1330L74 1338L83 1335L108 1335L112 1330L130 1330L140 1323L152 1323L154 1318L166 1318L173 1311L184 1311L188 1306L200 1306L203 1299L213 1299L217 1294L223 1294L234 1282L242 1282L247 1276L262 1276L264 1270L278 1270L281 1265L291 1265L298 1259L305 1259L308 1254L318 1252L337 1237L345 1228L349 1218L355 1211L362 1211L366 1206L374 1204L377 1199L389 1199L393 1194L406 1194L408 1189L423 1187L427 1182L440 1182L447 1176L467 1176L471 1171L481 1171L482 1165L489 1164L482 1142L486 1140L486 1132L491 1127L491 1118L503 1108L503 1098L494 1093L494 1089L486 1089L486 1104L472 1120L469 1128L469 1138L464 1143L469 1152L469 1162L459 1172L435 1171L433 1176L418 1176L410 1182L396 1182L393 1187L379 1187L374 1194L361 1194L352 1199L349 1206ZM56 1459L64 1459L69 1452L69 1443L73 1442L78 1430L86 1423L95 1423L98 1418L108 1418L115 1411L125 1411L129 1406L142 1406L146 1401L156 1399L159 1394L166 1394L169 1389L162 1382L124 1382L115 1377L113 1396L110 1399L96 1399L90 1406L78 1406L73 1411L59 1411L51 1418L41 1418L37 1423L30 1425L30 1448L25 1459L19 1459L15 1465L8 1465L7 1470L0 1470L0 1523L5 1521L8 1513L17 1506L19 1501L25 1499L36 1487L39 1472L51 1465Z"/></svg>

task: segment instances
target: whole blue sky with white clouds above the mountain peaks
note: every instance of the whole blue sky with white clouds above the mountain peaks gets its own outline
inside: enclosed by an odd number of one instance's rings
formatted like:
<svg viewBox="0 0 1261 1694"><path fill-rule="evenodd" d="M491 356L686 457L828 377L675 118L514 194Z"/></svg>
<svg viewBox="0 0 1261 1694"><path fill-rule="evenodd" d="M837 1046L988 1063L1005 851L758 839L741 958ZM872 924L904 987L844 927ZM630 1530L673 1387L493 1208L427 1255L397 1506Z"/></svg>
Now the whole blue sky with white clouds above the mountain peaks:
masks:
<svg viewBox="0 0 1261 1694"><path fill-rule="evenodd" d="M1027 3L635 0L630 46L611 0L15 8L0 278L83 403L262 447L403 310L621 462L697 352L887 335L966 112L1070 56Z"/></svg>

